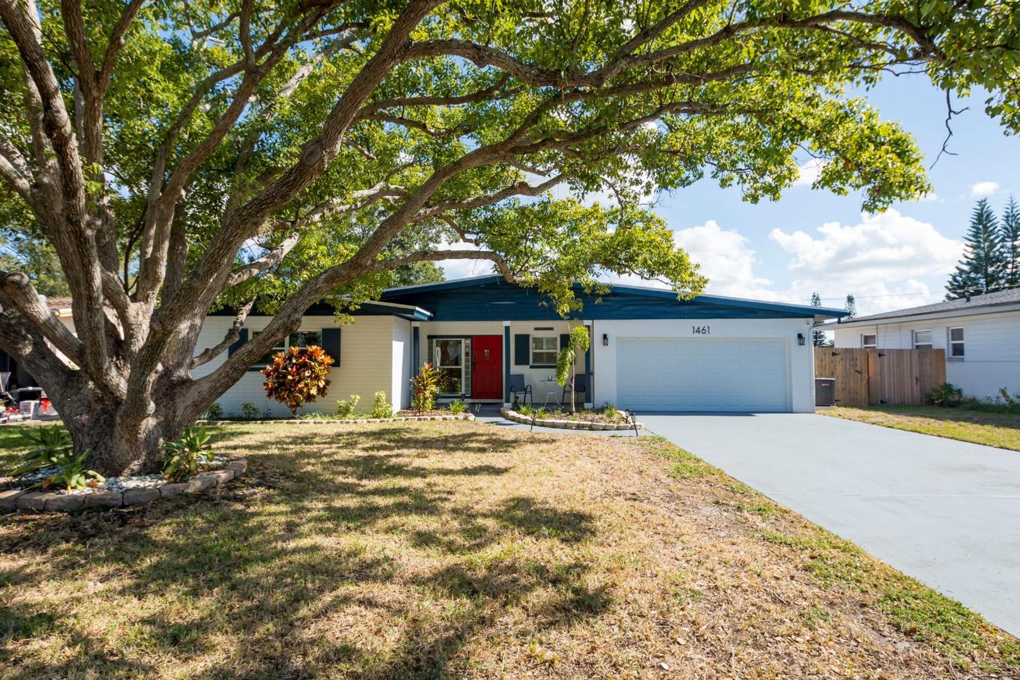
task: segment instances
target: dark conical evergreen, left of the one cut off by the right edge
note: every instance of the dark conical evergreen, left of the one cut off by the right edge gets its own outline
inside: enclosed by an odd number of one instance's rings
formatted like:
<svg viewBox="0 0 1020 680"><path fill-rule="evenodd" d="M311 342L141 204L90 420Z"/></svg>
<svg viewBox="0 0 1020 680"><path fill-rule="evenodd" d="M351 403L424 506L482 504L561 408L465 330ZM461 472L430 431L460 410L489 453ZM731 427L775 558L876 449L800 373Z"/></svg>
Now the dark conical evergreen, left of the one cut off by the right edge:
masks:
<svg viewBox="0 0 1020 680"><path fill-rule="evenodd" d="M974 206L964 242L966 250L956 272L950 276L946 299L1002 290L1006 272L1003 240L988 199L982 198Z"/></svg>

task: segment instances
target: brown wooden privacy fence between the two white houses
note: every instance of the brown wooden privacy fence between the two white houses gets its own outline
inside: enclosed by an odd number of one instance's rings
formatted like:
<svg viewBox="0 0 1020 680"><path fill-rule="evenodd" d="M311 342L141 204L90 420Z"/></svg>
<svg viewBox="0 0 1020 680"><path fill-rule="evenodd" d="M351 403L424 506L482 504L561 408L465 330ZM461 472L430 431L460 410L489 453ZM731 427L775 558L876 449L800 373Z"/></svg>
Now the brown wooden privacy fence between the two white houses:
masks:
<svg viewBox="0 0 1020 680"><path fill-rule="evenodd" d="M946 382L945 349L815 347L815 376L835 379L835 405L918 405Z"/></svg>

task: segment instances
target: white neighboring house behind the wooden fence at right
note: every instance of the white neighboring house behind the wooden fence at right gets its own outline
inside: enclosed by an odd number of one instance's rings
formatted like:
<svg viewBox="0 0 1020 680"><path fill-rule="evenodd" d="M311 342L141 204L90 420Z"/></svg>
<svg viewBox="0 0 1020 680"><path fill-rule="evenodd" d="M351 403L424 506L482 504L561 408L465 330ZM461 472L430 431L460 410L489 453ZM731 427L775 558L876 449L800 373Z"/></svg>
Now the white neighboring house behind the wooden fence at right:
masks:
<svg viewBox="0 0 1020 680"><path fill-rule="evenodd" d="M826 324L836 347L946 350L946 380L964 394L1020 392L1020 289Z"/></svg>

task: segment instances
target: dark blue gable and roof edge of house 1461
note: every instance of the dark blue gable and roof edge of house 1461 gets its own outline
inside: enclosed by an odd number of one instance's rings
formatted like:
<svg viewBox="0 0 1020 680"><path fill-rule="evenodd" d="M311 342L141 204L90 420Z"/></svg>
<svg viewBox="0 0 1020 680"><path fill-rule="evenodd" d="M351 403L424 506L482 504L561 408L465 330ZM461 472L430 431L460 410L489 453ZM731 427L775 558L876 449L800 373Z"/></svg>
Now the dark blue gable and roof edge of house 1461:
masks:
<svg viewBox="0 0 1020 680"><path fill-rule="evenodd" d="M722 295L698 295L691 300L677 298L671 290L609 284L605 295L578 297L583 303L584 319L775 319L775 318L838 318L844 309L815 307L806 304L749 300ZM472 290L473 289L473 290ZM428 309L436 321L467 321L476 319L519 320L555 319L558 315L548 304L548 298L534 288L509 283L500 275L454 279L440 283L417 284L390 288L380 300L401 301ZM509 305L523 303L519 309ZM499 310L492 305L499 306Z"/></svg>

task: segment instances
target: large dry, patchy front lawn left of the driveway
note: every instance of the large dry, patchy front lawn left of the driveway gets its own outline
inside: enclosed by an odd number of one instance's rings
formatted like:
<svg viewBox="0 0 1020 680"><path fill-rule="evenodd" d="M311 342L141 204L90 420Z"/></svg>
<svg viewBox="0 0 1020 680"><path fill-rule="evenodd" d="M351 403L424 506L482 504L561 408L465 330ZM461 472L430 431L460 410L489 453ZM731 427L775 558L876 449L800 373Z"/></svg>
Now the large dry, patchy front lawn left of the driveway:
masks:
<svg viewBox="0 0 1020 680"><path fill-rule="evenodd" d="M220 430L220 450L249 459L225 489L0 517L0 676L1020 668L1015 638L658 438L462 421Z"/></svg>

